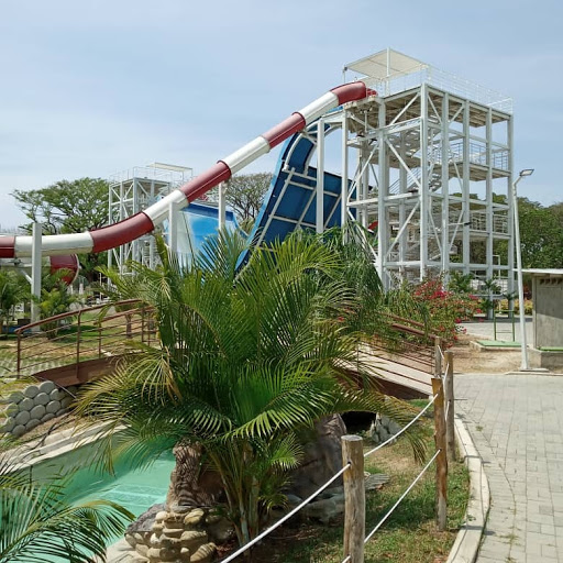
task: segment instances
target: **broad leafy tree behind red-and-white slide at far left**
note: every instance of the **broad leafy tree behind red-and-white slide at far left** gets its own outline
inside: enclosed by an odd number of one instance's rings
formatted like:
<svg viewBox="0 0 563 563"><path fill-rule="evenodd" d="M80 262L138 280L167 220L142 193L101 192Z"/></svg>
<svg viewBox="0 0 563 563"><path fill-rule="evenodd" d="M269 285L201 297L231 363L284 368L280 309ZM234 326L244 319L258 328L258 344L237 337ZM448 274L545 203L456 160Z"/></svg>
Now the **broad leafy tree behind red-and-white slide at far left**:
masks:
<svg viewBox="0 0 563 563"><path fill-rule="evenodd" d="M60 180L46 188L16 189L12 196L31 221L21 227L26 232L34 222L43 224L43 234L80 233L108 222L109 185L101 178ZM84 275L92 282L106 253L82 254L79 260Z"/></svg>

